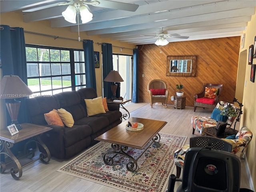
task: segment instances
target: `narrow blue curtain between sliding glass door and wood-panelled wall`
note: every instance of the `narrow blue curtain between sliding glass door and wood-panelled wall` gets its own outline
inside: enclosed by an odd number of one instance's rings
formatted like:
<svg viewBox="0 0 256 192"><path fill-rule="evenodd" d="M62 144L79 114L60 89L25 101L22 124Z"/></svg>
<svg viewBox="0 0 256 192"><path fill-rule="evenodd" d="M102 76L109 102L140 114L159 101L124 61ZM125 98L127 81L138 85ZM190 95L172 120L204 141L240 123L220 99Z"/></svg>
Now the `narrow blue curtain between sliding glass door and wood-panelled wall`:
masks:
<svg viewBox="0 0 256 192"><path fill-rule="evenodd" d="M139 102L139 50L133 49L133 84L132 84L132 102Z"/></svg>

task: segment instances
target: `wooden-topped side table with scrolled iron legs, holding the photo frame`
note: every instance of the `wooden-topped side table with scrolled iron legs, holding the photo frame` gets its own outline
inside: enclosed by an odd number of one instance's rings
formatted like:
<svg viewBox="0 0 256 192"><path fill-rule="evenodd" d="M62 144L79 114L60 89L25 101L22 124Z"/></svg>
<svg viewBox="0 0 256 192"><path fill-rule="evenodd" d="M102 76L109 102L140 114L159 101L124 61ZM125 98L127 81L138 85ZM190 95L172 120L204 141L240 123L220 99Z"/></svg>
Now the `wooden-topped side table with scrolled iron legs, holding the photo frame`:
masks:
<svg viewBox="0 0 256 192"><path fill-rule="evenodd" d="M47 146L42 142L39 135L52 130L50 127L30 124L30 123L23 123L21 124L22 129L19 130L18 134L15 134L13 136L10 135L10 132L7 129L1 130L0 133L0 154L7 155L12 159L11 162L15 163L15 167L12 167L10 169L11 175L14 179L18 180L22 176L22 168L37 161L41 160L44 163L48 163L50 161L51 155L50 151L48 150ZM10 148L13 147L14 143L21 142L23 140L29 139L28 142L26 142L24 146L24 153L28 158L34 157L34 152L31 149L27 149L27 146L31 142L35 142L36 144L39 144L42 148L41 150L44 150L39 155L39 158L36 160L33 160L32 162L29 162L28 164L21 166L19 160L14 156ZM5 162L1 162L1 173L3 173L6 170L6 164ZM18 176L16 176L18 174Z"/></svg>

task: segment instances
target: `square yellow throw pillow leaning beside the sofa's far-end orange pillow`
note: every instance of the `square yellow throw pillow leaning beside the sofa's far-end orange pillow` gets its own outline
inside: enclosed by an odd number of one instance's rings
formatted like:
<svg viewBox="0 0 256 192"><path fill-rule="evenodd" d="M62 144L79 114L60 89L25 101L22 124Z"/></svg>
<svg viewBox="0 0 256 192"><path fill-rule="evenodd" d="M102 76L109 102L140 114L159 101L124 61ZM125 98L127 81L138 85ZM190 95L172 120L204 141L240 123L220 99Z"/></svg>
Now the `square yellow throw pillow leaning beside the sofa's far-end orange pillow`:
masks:
<svg viewBox="0 0 256 192"><path fill-rule="evenodd" d="M86 104L87 116L93 116L100 113L106 113L102 104L102 97L94 99L84 99Z"/></svg>

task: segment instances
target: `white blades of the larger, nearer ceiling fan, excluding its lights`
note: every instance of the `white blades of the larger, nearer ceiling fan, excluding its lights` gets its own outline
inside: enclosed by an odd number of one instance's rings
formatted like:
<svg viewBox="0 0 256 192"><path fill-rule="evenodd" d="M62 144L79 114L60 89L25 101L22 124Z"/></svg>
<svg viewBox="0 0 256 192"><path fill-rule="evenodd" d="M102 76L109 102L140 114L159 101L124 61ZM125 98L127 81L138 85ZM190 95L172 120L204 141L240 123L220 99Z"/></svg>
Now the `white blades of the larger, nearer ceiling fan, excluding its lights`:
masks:
<svg viewBox="0 0 256 192"><path fill-rule="evenodd" d="M51 0L50 0L51 1ZM55 1L55 0L52 0ZM92 5L102 8L112 8L118 10L125 10L125 11L136 11L139 7L137 4L130 4L124 2L116 2L116 1L109 1L109 0L66 0L68 2L55 2L53 4L48 4L40 7L30 8L23 10L22 12L33 12L38 11L46 8L51 8L58 5L70 5L70 4L83 4L83 5ZM47 1L49 2L49 1Z"/></svg>

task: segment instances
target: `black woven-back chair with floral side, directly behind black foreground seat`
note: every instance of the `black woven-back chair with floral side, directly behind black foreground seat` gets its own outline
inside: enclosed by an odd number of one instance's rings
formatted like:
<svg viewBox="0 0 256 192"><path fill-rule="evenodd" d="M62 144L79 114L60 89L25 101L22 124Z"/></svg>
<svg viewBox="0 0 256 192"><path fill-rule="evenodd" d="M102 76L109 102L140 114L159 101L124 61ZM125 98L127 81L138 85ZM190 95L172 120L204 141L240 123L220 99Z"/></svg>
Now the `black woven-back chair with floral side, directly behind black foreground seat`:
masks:
<svg viewBox="0 0 256 192"><path fill-rule="evenodd" d="M232 144L219 138L210 136L198 136L190 138L190 144L184 145L174 153L174 164L176 165L176 176L180 177L181 169L184 167L184 159L189 148L205 148L211 146L212 150L232 151Z"/></svg>

